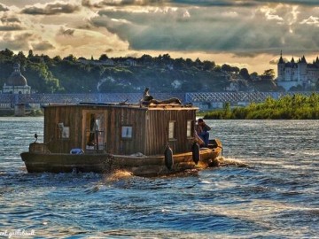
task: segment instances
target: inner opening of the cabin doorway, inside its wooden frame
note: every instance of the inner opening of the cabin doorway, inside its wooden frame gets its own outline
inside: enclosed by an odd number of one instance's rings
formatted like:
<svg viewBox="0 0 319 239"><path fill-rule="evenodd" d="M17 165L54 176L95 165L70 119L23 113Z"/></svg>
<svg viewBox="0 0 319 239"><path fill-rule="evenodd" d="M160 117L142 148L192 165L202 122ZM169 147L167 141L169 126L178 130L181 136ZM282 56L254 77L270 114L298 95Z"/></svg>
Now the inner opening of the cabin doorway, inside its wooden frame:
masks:
<svg viewBox="0 0 319 239"><path fill-rule="evenodd" d="M86 115L86 150L104 150L105 120L103 113Z"/></svg>

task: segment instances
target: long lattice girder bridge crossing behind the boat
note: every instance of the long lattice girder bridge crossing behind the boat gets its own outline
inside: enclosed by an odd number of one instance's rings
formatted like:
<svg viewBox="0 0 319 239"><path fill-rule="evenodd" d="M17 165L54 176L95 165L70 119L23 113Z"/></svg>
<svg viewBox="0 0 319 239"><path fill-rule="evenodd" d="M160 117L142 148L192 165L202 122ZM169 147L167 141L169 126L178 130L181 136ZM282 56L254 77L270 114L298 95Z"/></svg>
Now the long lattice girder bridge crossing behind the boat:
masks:
<svg viewBox="0 0 319 239"><path fill-rule="evenodd" d="M202 93L153 93L156 99L178 97L183 103L260 103L268 96L278 99L286 95L311 95L312 92L202 92ZM97 94L0 94L0 104L79 104L79 103L138 103L142 93Z"/></svg>

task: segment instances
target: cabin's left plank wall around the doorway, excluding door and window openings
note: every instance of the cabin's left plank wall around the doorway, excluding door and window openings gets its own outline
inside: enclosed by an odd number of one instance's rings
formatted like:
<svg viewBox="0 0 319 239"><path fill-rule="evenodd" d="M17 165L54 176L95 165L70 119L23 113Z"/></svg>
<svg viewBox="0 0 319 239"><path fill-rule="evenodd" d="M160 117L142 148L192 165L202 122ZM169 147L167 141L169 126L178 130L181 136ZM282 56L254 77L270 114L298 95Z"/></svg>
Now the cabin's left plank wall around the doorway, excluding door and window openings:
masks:
<svg viewBox="0 0 319 239"><path fill-rule="evenodd" d="M50 106L44 111L44 143L51 152L67 153L82 148L82 112L105 112L106 151L113 154L145 154L144 130L145 112L139 108L88 105ZM70 129L69 139L61 139L58 123L63 122ZM121 138L121 127L132 126L132 139ZM51 140L52 137L52 140ZM83 149L84 150L84 149Z"/></svg>

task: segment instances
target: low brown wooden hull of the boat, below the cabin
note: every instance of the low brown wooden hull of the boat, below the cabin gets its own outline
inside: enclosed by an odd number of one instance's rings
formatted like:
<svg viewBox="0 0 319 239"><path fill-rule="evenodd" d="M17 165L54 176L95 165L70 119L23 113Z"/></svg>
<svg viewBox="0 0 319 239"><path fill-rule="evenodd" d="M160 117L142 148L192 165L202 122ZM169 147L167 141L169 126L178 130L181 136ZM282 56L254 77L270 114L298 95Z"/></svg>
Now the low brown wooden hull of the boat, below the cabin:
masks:
<svg viewBox="0 0 319 239"><path fill-rule="evenodd" d="M164 155L125 156L22 152L21 158L25 162L28 173L112 173L117 170L127 170L139 176L152 176L177 173L193 168L206 168L220 155L221 151L222 147L201 149L198 165L195 165L191 152L175 154L171 169L167 168Z"/></svg>

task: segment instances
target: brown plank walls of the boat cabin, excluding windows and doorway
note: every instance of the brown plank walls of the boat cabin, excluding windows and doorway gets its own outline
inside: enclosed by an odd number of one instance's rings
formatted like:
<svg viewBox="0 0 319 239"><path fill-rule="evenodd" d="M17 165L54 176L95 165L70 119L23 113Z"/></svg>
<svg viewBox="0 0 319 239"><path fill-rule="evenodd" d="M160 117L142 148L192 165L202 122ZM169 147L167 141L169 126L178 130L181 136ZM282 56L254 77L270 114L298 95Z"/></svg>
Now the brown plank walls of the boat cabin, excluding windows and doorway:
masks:
<svg viewBox="0 0 319 239"><path fill-rule="evenodd" d="M105 146L113 154L162 154L168 142L174 153L191 150L192 138L186 137L187 120L195 120L194 109L148 109L112 106L67 105L45 108L44 143L51 152L82 148L82 112L105 112ZM168 139L168 123L175 120L175 140ZM58 123L70 129L62 139ZM132 126L132 139L121 138L121 127ZM193 135L193 132L192 132ZM51 139L52 137L52 139Z"/></svg>

